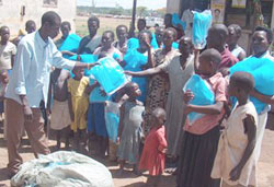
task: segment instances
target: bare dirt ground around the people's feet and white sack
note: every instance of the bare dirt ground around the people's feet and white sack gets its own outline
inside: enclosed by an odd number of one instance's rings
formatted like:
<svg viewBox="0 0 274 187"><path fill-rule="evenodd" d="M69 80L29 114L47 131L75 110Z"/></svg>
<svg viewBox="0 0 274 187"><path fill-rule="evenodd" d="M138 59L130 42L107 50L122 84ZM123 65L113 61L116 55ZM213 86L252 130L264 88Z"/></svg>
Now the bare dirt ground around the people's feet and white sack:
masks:
<svg viewBox="0 0 274 187"><path fill-rule="evenodd" d="M258 166L258 182L259 187L274 187L274 116L271 116L269 129L265 130L264 140L262 144L262 154ZM271 130L272 129L272 130ZM21 155L24 162L34 159L31 147L27 145L27 141L24 139L20 149ZM50 149L53 150L55 144L54 140L49 140ZM3 140L2 126L0 126L0 187L10 186L10 180L7 173L8 153L5 148L5 141ZM117 177L117 164L113 164L106 161L102 161L107 166L113 175L115 187L141 187L145 185L146 176L136 176L130 172L126 173L124 178ZM161 178L159 187L175 187L175 177L164 174Z"/></svg>

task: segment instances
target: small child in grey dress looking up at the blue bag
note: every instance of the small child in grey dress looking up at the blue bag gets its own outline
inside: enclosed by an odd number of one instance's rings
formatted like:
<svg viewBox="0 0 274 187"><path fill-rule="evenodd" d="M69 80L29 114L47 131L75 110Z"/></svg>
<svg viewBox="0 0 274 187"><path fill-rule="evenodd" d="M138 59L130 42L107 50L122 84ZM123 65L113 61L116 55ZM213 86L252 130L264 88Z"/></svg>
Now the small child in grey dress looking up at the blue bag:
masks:
<svg viewBox="0 0 274 187"><path fill-rule="evenodd" d="M129 98L121 107L121 120L118 127L118 152L119 173L123 174L125 162L134 165L137 174L137 163L139 159L139 144L141 137L142 113L145 107L137 97L141 95L137 83L128 83L125 87Z"/></svg>

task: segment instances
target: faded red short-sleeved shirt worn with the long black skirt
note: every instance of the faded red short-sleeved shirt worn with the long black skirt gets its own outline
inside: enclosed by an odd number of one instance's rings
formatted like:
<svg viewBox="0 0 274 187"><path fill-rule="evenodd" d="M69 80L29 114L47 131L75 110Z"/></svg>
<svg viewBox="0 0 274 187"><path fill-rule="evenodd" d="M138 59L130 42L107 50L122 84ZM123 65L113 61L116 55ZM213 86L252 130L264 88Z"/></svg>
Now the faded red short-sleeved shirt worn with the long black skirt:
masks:
<svg viewBox="0 0 274 187"><path fill-rule="evenodd" d="M212 85L212 90L215 93L215 102L227 102L226 89L227 84L221 73L216 73L209 78L208 83ZM216 127L225 114L225 108L219 115L205 115L202 118L197 119L190 126L190 122L186 120L184 130L195 135L204 135L214 127Z"/></svg>

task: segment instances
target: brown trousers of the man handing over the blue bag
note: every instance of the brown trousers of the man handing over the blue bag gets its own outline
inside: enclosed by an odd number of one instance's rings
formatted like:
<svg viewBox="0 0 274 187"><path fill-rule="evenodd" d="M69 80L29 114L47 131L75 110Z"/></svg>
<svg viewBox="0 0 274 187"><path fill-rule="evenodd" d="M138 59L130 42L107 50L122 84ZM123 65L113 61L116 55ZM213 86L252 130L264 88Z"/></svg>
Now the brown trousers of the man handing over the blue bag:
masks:
<svg viewBox="0 0 274 187"><path fill-rule="evenodd" d="M32 108L33 120L30 122L24 120L23 107L18 102L8 98L5 101L5 109L9 154L8 168L10 172L16 173L19 166L23 163L18 151L23 128L25 128L31 141L35 157L37 157L37 154L49 154L50 151L47 147L47 139L44 132L44 119L39 108Z"/></svg>

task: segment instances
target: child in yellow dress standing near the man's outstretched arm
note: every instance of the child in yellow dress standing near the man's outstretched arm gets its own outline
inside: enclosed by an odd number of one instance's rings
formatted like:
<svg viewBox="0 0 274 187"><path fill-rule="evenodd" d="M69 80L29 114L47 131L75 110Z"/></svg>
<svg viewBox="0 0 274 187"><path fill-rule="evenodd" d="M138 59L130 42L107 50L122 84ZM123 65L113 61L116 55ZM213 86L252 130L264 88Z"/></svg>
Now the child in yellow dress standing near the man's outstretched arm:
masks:
<svg viewBox="0 0 274 187"><path fill-rule="evenodd" d="M87 113L89 97L85 89L89 86L89 78L83 77L83 69L73 69L73 79L68 80L69 109L71 116L71 130L75 132L73 149L83 151L85 148ZM79 147L80 143L80 147Z"/></svg>

